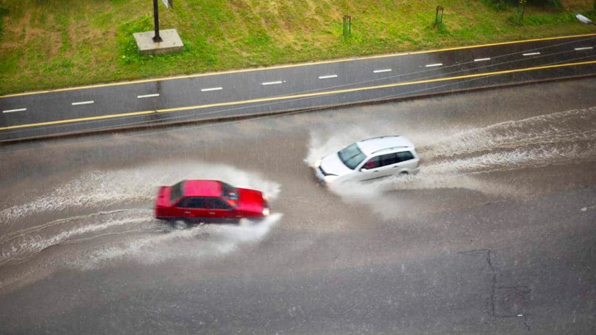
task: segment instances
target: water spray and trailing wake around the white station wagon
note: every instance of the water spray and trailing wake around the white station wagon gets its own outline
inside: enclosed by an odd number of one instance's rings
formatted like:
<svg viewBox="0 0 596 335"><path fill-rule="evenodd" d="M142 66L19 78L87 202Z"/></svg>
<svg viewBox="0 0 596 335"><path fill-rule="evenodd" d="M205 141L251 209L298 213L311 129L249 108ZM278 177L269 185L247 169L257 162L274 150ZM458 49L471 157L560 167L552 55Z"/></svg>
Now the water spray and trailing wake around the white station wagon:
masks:
<svg viewBox="0 0 596 335"><path fill-rule="evenodd" d="M353 129L354 132L332 138L312 132L305 162L314 166L314 161L325 154L371 137L371 132ZM497 196L520 195L523 190L514 186L486 182L474 175L596 160L596 107L506 121L434 140L432 136L426 137L430 140L417 149L423 159L418 175L380 179L367 183L367 187L345 182L334 185L332 191L346 199L379 199L392 190L436 188L465 188Z"/></svg>

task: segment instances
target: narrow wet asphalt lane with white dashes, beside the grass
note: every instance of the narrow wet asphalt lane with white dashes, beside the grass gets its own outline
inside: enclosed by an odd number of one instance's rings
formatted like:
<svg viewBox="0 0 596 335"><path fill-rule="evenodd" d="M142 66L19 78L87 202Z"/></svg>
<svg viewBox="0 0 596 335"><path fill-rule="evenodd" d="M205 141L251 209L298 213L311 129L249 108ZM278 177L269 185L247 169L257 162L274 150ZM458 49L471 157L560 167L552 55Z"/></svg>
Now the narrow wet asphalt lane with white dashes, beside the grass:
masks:
<svg viewBox="0 0 596 335"><path fill-rule="evenodd" d="M596 75L595 42L586 34L5 95L0 142Z"/></svg>

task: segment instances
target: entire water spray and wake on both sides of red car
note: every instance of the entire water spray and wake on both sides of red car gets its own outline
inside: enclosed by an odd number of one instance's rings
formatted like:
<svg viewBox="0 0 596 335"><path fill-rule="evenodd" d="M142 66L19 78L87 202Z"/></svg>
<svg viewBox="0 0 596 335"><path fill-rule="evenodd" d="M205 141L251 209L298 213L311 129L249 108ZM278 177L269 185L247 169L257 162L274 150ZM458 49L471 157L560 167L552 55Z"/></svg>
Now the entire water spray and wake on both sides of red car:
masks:
<svg viewBox="0 0 596 335"><path fill-rule="evenodd" d="M271 200L280 193L280 184L223 164L182 162L80 175L46 195L0 212L1 223L12 227L18 220L14 226L24 226L0 236L0 266L10 268L0 273L0 289L34 282L64 266L88 270L114 260L150 264L228 254L241 245L258 243L282 217L274 213L260 223L176 230L153 219L149 208L103 210L110 205L151 203L158 186L182 179L221 179L262 190ZM27 222L34 214L60 210L96 212L34 225ZM55 246L52 252L42 252Z"/></svg>

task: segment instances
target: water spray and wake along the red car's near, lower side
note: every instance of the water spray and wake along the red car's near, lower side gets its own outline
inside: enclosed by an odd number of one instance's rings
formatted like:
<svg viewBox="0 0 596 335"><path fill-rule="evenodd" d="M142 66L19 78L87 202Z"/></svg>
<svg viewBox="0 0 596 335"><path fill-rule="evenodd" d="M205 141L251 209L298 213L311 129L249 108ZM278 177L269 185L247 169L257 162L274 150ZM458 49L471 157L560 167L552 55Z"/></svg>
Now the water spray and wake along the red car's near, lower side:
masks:
<svg viewBox="0 0 596 335"><path fill-rule="evenodd" d="M102 240L95 246L84 245L85 249L77 252L58 252L48 255L47 258L37 260L34 264L19 269L17 273L5 275L0 273L0 290L28 284L53 273L57 269L68 266L71 269L88 271L104 266L113 266L117 261L134 261L136 264L147 265L179 259L187 262L201 262L205 258L224 256L245 245L254 245L262 241L271 229L279 223L281 213L274 213L258 222L241 222L240 225L195 225L188 229L165 229L164 223L156 223L153 229L145 234L136 231L125 231L125 234L111 234L110 240ZM26 253L31 255L39 252L40 248L48 247L51 243L86 242L94 237L105 234L80 236L88 233L97 233L110 227L134 225L142 219L119 220L106 219L97 228L92 225L82 229L71 229L66 233L47 236L38 240ZM145 221L146 224L147 222ZM24 255L25 253L23 253Z"/></svg>

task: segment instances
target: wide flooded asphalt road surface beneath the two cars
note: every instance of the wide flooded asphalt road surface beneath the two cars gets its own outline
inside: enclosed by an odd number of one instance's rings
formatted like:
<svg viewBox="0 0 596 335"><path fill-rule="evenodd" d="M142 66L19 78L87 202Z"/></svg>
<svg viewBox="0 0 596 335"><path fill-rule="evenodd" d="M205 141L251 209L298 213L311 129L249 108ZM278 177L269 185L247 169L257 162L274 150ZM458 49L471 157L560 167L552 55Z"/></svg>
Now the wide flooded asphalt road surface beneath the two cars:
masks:
<svg viewBox="0 0 596 335"><path fill-rule="evenodd" d="M595 334L596 80L0 148L0 334ZM401 134L417 176L310 165ZM157 187L263 190L166 225ZM186 229L184 229L186 228Z"/></svg>

